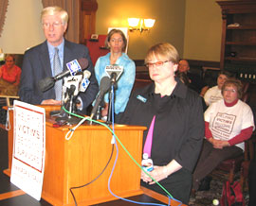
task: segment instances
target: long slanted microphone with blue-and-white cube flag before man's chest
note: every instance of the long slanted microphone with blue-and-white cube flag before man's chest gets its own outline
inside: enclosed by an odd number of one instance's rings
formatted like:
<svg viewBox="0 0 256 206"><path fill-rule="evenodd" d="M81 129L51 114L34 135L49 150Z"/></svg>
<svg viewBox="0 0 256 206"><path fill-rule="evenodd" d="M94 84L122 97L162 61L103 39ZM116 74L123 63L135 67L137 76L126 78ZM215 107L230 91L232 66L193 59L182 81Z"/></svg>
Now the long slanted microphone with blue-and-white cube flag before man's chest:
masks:
<svg viewBox="0 0 256 206"><path fill-rule="evenodd" d="M51 89L55 81L62 79L68 75L74 76L76 73L81 72L88 66L88 60L82 58L80 60L71 60L66 63L66 67L68 68L64 72L58 74L55 77L46 77L39 81L38 87L42 93L45 93L47 90Z"/></svg>

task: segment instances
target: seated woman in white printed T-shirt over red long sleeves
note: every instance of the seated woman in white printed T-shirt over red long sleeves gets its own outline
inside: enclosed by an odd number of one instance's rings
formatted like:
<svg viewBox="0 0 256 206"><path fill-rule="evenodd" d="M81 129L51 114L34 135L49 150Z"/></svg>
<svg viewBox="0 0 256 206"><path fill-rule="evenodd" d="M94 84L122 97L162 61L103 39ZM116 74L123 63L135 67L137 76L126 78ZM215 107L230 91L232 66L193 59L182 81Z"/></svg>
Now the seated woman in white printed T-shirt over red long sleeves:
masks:
<svg viewBox="0 0 256 206"><path fill-rule="evenodd" d="M222 87L223 98L205 112L205 136L200 158L193 173L193 190L222 161L243 154L246 141L254 129L253 113L239 98L242 83L227 80Z"/></svg>

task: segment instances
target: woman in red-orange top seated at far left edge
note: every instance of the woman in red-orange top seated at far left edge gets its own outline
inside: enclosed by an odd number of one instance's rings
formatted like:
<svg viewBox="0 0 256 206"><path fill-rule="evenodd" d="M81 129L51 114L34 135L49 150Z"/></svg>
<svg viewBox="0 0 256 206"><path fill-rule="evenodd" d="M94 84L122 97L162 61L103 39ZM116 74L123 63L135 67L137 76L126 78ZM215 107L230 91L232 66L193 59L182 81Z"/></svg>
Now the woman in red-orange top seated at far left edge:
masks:
<svg viewBox="0 0 256 206"><path fill-rule="evenodd" d="M6 63L0 68L0 77L8 81L14 86L20 84L21 68L15 65L15 58L13 55L7 55Z"/></svg>

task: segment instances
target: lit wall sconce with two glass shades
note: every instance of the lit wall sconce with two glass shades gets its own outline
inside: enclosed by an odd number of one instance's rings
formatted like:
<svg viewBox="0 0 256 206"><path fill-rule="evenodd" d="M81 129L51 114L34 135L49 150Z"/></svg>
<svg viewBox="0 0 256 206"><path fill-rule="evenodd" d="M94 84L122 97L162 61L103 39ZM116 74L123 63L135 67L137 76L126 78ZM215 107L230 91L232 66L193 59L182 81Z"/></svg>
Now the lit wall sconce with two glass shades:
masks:
<svg viewBox="0 0 256 206"><path fill-rule="evenodd" d="M155 19L128 18L130 31L149 31L155 25Z"/></svg>

